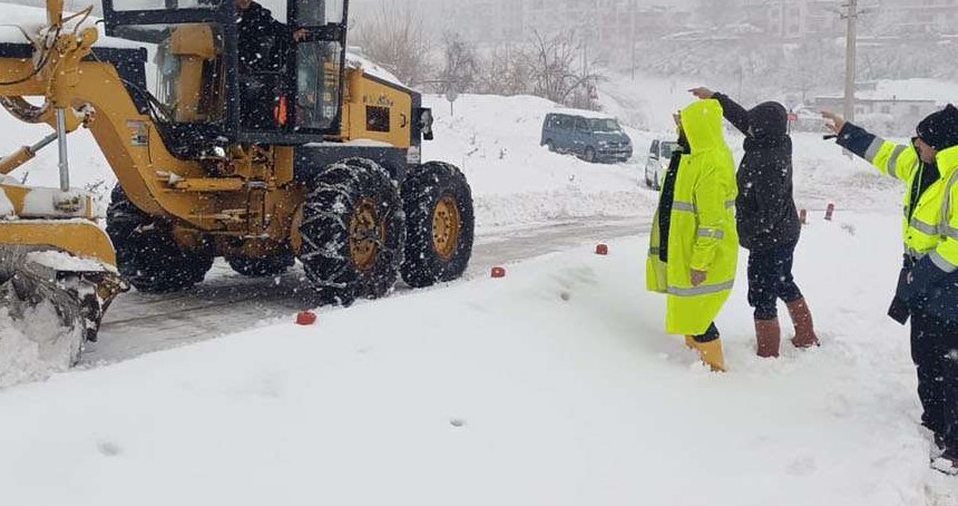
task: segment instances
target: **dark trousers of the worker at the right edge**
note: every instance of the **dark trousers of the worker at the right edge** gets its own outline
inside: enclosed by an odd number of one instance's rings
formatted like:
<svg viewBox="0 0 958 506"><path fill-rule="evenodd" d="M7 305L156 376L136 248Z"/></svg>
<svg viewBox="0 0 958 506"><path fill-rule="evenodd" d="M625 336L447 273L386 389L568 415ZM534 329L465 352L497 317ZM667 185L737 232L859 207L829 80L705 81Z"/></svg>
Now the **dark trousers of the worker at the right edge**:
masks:
<svg viewBox="0 0 958 506"><path fill-rule="evenodd" d="M922 425L958 449L958 323L913 309L911 359L918 366Z"/></svg>

